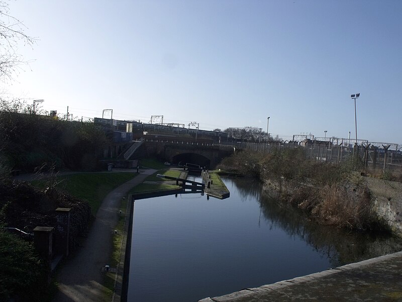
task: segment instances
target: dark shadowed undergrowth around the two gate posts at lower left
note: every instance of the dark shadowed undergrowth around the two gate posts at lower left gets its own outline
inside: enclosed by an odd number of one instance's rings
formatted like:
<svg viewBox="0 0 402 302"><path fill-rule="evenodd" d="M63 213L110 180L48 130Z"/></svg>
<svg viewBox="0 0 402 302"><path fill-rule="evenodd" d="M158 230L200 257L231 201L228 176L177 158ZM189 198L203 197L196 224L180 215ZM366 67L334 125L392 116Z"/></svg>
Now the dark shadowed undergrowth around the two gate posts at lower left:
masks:
<svg viewBox="0 0 402 302"><path fill-rule="evenodd" d="M0 176L0 296L17 300L45 301L49 297L48 269L39 259L32 242L6 233L5 227L33 233L36 226L55 226L57 207L69 207L70 251L78 245L90 220L90 207L48 183L43 189ZM8 231L7 231L8 232ZM61 234L55 229L53 240Z"/></svg>

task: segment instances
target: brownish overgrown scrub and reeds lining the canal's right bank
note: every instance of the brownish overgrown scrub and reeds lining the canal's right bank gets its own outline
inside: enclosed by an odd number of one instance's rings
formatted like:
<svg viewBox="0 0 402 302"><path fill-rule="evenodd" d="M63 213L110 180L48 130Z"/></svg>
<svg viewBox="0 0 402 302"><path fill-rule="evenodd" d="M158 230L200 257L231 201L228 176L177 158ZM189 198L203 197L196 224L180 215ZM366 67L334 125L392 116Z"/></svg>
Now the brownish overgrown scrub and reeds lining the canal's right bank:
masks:
<svg viewBox="0 0 402 302"><path fill-rule="evenodd" d="M307 212L321 224L368 230L383 228L372 212L370 191L353 179L353 163L333 165L306 159L303 148L272 154L238 152L218 168L275 185L288 204Z"/></svg>

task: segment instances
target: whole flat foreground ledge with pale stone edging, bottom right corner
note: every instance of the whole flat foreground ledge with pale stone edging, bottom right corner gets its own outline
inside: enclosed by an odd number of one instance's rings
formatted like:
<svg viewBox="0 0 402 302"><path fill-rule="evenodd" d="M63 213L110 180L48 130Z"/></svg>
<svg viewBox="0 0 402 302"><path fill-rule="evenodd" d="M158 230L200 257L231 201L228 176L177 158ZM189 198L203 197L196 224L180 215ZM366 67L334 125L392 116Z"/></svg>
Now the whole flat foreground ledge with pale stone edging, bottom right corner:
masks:
<svg viewBox="0 0 402 302"><path fill-rule="evenodd" d="M402 301L402 251L198 302Z"/></svg>

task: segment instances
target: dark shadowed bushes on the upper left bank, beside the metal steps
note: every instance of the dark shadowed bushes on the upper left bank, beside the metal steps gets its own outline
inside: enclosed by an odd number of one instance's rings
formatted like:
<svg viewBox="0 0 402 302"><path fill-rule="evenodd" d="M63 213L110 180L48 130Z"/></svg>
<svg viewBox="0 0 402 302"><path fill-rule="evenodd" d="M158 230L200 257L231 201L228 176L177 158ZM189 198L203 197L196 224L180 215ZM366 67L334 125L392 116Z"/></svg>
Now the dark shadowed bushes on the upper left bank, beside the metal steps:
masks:
<svg viewBox="0 0 402 302"><path fill-rule="evenodd" d="M93 123L1 111L0 140L2 157L10 168L49 171L98 168L109 138Z"/></svg>

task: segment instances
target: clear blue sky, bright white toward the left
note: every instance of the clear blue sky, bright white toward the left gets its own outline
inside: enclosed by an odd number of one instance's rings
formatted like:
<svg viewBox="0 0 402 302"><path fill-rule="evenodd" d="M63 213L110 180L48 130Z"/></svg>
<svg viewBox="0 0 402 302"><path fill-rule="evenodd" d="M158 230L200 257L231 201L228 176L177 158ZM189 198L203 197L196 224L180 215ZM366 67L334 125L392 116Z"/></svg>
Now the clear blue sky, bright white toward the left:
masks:
<svg viewBox="0 0 402 302"><path fill-rule="evenodd" d="M17 0L9 91L74 116L402 143L402 1ZM10 85L12 84L12 85Z"/></svg>

